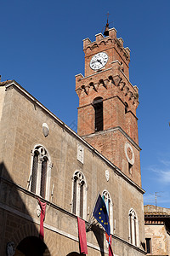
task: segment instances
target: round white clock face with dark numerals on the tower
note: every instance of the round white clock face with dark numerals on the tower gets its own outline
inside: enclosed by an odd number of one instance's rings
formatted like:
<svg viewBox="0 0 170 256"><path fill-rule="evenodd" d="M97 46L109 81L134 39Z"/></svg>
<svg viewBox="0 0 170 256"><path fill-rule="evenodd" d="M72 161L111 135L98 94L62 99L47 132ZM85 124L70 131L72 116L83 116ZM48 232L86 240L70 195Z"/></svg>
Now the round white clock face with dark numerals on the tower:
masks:
<svg viewBox="0 0 170 256"><path fill-rule="evenodd" d="M90 61L90 67L93 70L99 70L102 67L105 67L105 64L108 61L108 55L105 52L99 52L98 54L94 55Z"/></svg>

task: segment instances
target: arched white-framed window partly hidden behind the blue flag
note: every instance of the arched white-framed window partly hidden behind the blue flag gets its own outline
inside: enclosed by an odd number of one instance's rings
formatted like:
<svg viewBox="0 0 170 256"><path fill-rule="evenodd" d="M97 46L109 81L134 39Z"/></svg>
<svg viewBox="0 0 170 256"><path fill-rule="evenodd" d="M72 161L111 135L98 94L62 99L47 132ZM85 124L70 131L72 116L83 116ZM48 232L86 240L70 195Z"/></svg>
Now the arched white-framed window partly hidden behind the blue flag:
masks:
<svg viewBox="0 0 170 256"><path fill-rule="evenodd" d="M111 201L111 196L107 190L102 192L102 198L105 200L105 206L109 215L109 222L111 225L111 234L113 234L113 204Z"/></svg>

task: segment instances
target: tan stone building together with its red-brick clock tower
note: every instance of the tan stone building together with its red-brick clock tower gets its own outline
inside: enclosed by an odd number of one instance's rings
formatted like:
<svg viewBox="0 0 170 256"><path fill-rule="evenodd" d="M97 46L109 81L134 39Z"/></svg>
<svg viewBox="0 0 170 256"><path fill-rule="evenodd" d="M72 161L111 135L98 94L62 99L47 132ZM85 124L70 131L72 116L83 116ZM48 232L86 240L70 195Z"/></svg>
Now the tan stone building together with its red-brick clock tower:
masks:
<svg viewBox="0 0 170 256"><path fill-rule="evenodd" d="M114 255L145 254L129 49L115 29L83 42L78 135L16 81L0 82L0 255L80 255L77 216L86 221L88 255L107 255L105 230L91 218L99 193L109 204ZM47 203L43 241L37 198Z"/></svg>

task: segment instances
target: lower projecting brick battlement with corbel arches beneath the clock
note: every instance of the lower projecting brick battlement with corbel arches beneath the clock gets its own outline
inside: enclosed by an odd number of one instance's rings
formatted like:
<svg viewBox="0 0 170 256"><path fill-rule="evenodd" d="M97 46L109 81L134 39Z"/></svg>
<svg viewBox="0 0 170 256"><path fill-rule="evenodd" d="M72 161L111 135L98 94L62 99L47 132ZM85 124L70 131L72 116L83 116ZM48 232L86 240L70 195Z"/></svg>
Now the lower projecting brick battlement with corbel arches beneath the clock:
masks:
<svg viewBox="0 0 170 256"><path fill-rule="evenodd" d="M79 99L83 99L83 102L92 102L95 94L100 94L101 91L104 98L118 95L122 102L127 102L135 114L139 105L139 89L127 79L122 72L122 65L119 61L112 61L111 67L100 73L94 73L87 77L77 74L76 92Z"/></svg>

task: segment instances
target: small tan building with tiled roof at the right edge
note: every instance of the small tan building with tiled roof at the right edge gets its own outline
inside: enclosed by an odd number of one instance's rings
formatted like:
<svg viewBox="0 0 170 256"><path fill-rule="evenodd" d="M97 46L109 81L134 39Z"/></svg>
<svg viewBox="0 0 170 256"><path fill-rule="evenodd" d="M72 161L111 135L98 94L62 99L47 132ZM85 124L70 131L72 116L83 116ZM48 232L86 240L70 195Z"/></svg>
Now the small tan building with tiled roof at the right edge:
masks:
<svg viewBox="0 0 170 256"><path fill-rule="evenodd" d="M170 209L144 206L144 230L149 255L170 255Z"/></svg>

